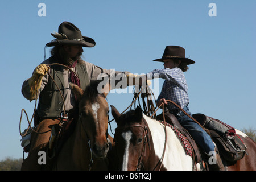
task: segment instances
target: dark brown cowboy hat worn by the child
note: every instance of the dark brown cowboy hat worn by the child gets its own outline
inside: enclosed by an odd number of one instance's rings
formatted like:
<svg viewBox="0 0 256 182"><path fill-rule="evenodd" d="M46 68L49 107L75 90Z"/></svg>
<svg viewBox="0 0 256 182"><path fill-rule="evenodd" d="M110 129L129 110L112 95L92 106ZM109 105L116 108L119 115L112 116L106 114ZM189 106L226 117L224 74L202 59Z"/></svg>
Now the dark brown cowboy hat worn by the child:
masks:
<svg viewBox="0 0 256 182"><path fill-rule="evenodd" d="M196 63L195 61L185 57L185 49L180 46L166 46L162 58L155 59L153 61L163 62L163 60L165 59L178 59L181 61L185 61L187 64Z"/></svg>

